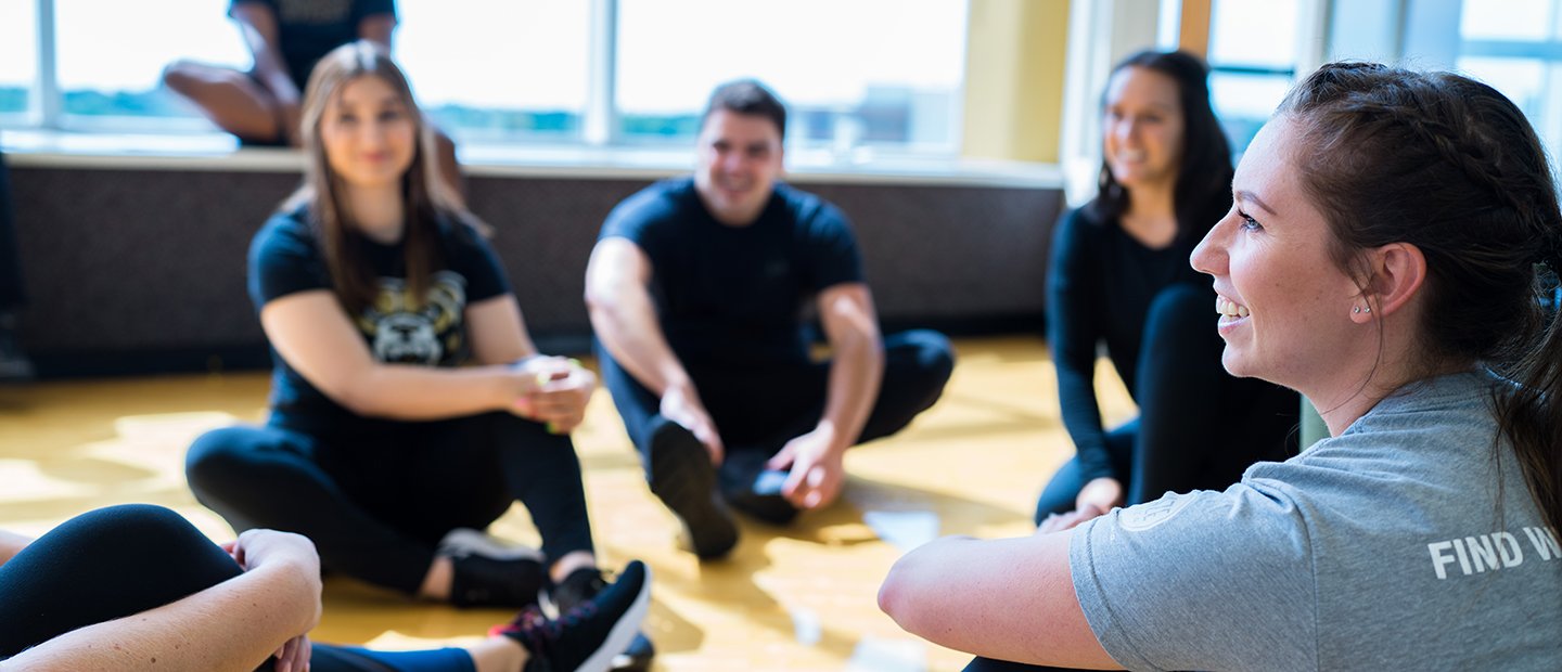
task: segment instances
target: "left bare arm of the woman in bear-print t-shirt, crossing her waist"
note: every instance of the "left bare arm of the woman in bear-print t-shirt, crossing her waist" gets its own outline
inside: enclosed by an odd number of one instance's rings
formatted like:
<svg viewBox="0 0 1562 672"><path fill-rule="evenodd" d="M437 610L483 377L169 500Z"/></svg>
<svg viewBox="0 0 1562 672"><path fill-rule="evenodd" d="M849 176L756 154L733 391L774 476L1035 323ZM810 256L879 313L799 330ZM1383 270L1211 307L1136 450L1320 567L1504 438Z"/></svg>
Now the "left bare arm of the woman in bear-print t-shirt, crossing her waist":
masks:
<svg viewBox="0 0 1562 672"><path fill-rule="evenodd" d="M261 309L261 326L300 376L358 415L442 419L514 410L517 399L537 388L534 371L503 365L430 368L378 362L330 290L269 301ZM530 340L514 351L531 351Z"/></svg>

